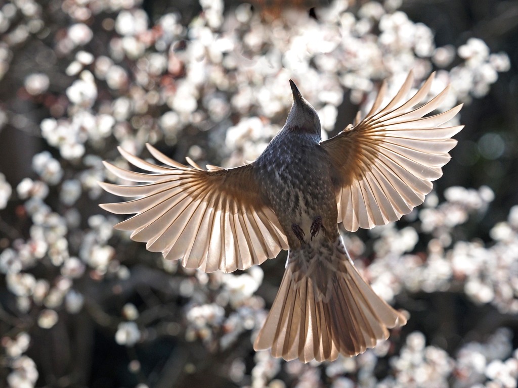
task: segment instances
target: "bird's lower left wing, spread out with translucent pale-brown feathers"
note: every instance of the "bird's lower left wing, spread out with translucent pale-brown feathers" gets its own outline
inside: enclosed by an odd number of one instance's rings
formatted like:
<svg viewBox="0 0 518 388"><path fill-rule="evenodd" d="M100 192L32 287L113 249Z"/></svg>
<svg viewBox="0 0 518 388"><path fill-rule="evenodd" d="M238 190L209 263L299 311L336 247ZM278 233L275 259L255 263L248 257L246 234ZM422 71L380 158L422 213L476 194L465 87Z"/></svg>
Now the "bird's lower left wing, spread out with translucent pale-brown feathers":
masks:
<svg viewBox="0 0 518 388"><path fill-rule="evenodd" d="M99 183L106 191L133 201L100 205L116 214L135 216L118 223L131 238L146 242L152 252L181 260L187 268L205 272L244 270L287 249L286 236L275 213L264 203L253 165L234 169L211 166L202 170L191 160L184 166L147 144L149 152L168 167L119 152L132 165L152 172L123 170L105 162L115 175L144 185Z"/></svg>

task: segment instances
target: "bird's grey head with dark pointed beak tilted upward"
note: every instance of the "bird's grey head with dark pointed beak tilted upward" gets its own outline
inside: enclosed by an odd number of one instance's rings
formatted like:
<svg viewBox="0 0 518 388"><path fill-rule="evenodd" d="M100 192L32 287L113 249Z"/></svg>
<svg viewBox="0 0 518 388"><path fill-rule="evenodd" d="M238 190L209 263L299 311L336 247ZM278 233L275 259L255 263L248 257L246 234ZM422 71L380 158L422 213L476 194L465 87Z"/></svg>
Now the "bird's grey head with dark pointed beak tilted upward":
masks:
<svg viewBox="0 0 518 388"><path fill-rule="evenodd" d="M295 82L290 80L293 93L293 105L286 119L285 128L299 133L307 133L318 138L321 137L319 115L311 104L302 97Z"/></svg>

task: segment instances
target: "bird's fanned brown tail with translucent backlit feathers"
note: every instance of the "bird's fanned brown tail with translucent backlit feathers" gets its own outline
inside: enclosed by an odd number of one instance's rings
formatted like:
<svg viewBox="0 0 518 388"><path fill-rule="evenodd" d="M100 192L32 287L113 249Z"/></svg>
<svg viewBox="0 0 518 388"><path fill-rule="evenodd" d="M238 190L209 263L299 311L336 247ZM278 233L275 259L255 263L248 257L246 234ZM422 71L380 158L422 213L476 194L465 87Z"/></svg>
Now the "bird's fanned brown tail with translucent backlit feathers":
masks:
<svg viewBox="0 0 518 388"><path fill-rule="evenodd" d="M255 350L301 362L353 356L407 323L354 267L341 238L325 249L290 251L281 286Z"/></svg>

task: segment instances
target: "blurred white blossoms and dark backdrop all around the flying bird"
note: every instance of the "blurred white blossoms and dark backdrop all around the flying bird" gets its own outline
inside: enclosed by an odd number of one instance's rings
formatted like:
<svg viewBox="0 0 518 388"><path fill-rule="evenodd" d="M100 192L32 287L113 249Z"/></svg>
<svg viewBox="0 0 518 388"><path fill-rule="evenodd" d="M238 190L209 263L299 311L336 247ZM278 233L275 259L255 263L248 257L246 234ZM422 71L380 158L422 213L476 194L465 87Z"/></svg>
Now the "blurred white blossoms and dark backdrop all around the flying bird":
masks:
<svg viewBox="0 0 518 388"><path fill-rule="evenodd" d="M512 0L0 1L0 386L516 387L516 42ZM284 124L289 79L326 138L410 70L452 84L465 128L422 206L343 231L411 317L362 355L253 351L286 252L185 270L97 206L118 145L238 166Z"/></svg>

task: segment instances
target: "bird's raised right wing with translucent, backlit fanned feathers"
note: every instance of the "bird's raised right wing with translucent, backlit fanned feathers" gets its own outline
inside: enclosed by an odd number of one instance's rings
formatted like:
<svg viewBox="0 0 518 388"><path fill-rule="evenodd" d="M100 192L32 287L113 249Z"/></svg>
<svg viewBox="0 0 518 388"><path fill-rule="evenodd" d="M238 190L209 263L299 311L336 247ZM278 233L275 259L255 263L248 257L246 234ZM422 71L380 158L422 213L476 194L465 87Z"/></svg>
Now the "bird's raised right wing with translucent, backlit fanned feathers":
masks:
<svg viewBox="0 0 518 388"><path fill-rule="evenodd" d="M363 120L321 143L338 172L338 222L349 231L370 229L398 220L424 201L432 181L442 175L451 139L463 126L441 127L461 110L423 117L437 109L448 94L447 86L435 98L422 102L434 74L413 97L407 99L412 73L397 95L382 107L386 84Z"/></svg>

